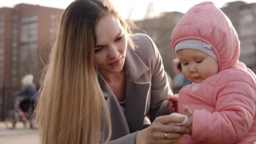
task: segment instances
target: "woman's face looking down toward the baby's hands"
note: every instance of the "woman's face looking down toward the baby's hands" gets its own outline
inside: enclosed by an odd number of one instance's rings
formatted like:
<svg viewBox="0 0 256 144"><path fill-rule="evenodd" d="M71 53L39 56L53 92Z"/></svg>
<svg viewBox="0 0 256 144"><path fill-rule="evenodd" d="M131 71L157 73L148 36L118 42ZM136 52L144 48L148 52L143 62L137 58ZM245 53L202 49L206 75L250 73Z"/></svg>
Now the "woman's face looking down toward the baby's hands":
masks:
<svg viewBox="0 0 256 144"><path fill-rule="evenodd" d="M120 21L112 14L103 16L95 27L94 60L101 74L118 73L123 69L127 37Z"/></svg>

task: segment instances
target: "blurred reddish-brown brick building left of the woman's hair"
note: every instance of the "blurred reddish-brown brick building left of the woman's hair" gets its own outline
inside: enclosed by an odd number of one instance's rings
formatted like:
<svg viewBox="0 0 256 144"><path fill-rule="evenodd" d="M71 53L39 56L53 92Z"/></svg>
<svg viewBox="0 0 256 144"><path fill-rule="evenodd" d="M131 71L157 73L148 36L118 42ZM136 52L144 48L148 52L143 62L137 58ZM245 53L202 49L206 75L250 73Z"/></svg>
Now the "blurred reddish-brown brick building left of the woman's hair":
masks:
<svg viewBox="0 0 256 144"><path fill-rule="evenodd" d="M39 83L63 11L28 4L0 8L0 86L19 87L27 74Z"/></svg>

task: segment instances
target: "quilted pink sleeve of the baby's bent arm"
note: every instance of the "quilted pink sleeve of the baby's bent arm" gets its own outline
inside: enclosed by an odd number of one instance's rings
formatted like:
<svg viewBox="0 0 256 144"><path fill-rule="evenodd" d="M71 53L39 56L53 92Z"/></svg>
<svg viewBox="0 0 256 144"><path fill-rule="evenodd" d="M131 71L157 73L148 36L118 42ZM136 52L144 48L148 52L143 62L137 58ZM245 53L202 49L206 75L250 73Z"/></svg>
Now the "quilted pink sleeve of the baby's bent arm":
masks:
<svg viewBox="0 0 256 144"><path fill-rule="evenodd" d="M216 112L193 114L191 138L207 144L233 144L249 131L255 115L255 90L248 83L232 81L216 88Z"/></svg>

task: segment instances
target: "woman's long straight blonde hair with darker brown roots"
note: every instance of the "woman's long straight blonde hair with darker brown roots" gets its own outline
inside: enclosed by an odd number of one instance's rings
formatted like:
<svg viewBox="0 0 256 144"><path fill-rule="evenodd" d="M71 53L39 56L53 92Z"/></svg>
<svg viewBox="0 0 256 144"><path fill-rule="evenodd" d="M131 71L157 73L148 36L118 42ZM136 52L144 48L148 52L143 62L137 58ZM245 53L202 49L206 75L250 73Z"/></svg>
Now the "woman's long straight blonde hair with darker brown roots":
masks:
<svg viewBox="0 0 256 144"><path fill-rule="evenodd" d="M42 144L98 144L111 136L110 117L94 64L95 24L112 13L107 0L76 0L64 11L35 110ZM128 43L134 48L131 39Z"/></svg>

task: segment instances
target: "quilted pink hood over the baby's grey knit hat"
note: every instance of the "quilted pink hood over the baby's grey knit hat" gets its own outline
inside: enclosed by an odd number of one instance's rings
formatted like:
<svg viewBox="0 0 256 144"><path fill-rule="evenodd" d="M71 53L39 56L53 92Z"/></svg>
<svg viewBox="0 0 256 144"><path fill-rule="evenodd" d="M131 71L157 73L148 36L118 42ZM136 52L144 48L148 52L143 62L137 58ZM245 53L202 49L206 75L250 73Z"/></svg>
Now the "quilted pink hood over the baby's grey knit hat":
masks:
<svg viewBox="0 0 256 144"><path fill-rule="evenodd" d="M172 47L181 40L197 39L211 44L219 62L219 72L238 62L240 41L231 21L212 2L193 6L173 29Z"/></svg>

